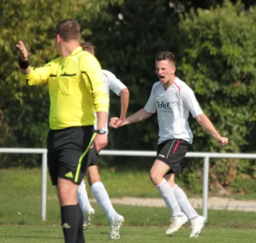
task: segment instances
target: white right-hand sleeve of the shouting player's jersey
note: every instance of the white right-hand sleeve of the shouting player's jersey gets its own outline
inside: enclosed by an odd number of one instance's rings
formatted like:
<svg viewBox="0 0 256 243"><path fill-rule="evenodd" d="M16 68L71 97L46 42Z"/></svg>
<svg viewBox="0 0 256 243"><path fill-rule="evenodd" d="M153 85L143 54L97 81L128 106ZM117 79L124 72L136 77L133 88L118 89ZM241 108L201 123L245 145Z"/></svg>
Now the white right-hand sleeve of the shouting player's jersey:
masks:
<svg viewBox="0 0 256 243"><path fill-rule="evenodd" d="M196 96L194 95L194 92L190 87L187 87L182 93L182 99L185 106L189 109L193 117L197 117L197 115L200 115L204 113L196 100Z"/></svg>

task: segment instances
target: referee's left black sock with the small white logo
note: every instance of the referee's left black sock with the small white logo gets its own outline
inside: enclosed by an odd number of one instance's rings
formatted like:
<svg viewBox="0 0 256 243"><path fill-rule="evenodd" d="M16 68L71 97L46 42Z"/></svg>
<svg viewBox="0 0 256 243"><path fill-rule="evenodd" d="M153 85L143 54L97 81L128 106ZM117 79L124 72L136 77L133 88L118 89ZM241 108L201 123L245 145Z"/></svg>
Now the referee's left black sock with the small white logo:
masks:
<svg viewBox="0 0 256 243"><path fill-rule="evenodd" d="M79 226L80 206L67 205L60 208L62 216L62 230L65 243L77 243L77 232Z"/></svg>

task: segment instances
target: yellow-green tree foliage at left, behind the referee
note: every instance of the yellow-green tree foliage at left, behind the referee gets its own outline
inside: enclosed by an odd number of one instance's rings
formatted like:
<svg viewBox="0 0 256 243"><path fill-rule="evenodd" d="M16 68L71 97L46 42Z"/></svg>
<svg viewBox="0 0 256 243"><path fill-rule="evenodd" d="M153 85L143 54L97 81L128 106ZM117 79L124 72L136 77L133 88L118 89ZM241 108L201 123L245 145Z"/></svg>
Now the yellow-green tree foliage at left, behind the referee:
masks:
<svg viewBox="0 0 256 243"><path fill-rule="evenodd" d="M121 0L3 0L0 3L0 146L44 147L48 131L48 87L27 87L18 77L15 45L22 39L30 64L41 66L57 56L55 24L65 18L91 21ZM107 18L104 15L102 19ZM84 28L83 34L90 35ZM10 159L12 158L12 159ZM7 163L8 161L8 163ZM13 162L12 162L13 161ZM37 160L28 159L26 165ZM20 157L0 157L0 166L19 165ZM6 164L7 163L7 164Z"/></svg>

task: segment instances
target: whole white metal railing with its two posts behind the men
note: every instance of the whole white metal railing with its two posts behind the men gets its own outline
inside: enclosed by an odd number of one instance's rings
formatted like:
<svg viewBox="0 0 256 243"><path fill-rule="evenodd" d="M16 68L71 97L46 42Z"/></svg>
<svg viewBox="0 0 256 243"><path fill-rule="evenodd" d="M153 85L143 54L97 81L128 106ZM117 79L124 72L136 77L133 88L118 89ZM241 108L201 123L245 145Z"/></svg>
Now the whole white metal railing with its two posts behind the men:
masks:
<svg viewBox="0 0 256 243"><path fill-rule="evenodd" d="M22 153L22 154L42 154L42 182L41 182L41 219L46 220L46 189L47 189L47 149L36 148L0 148L0 153ZM102 156L142 156L155 157L155 151L132 151L132 150L102 150ZM203 174L203 198L202 214L207 219L207 199L208 199L208 177L210 158L230 158L230 159L256 159L256 154L235 154L218 152L187 152L186 157L204 158Z"/></svg>

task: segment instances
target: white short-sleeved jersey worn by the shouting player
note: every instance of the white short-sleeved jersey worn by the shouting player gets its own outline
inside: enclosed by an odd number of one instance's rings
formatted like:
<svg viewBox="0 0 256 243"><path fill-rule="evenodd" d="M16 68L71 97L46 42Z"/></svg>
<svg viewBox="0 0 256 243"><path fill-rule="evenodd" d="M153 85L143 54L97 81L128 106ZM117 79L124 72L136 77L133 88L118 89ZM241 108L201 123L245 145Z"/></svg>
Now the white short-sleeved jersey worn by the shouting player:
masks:
<svg viewBox="0 0 256 243"><path fill-rule="evenodd" d="M151 113L157 111L158 144L169 139L183 139L192 143L193 134L188 125L189 112L193 117L203 113L192 89L177 77L166 90L160 81L154 83L144 109Z"/></svg>

